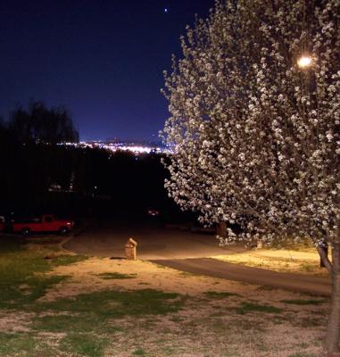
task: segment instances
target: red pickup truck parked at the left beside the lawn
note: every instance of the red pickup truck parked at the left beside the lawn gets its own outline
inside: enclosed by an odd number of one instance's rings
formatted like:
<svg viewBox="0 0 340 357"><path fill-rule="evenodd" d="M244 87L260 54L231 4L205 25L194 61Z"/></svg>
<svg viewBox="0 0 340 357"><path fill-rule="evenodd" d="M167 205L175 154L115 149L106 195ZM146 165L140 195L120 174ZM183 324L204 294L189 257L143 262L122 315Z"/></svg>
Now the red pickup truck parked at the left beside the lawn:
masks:
<svg viewBox="0 0 340 357"><path fill-rule="evenodd" d="M57 220L53 214L12 221L12 231L21 233L23 236L37 232L59 232L62 235L67 235L73 226L72 220Z"/></svg>

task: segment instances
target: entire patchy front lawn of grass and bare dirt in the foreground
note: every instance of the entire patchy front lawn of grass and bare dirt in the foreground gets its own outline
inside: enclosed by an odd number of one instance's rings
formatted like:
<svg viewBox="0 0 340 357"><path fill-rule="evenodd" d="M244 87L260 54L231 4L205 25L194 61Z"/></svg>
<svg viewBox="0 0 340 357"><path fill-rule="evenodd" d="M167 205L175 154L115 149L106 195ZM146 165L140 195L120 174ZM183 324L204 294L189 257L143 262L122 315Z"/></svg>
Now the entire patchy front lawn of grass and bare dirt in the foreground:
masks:
<svg viewBox="0 0 340 357"><path fill-rule="evenodd" d="M328 299L0 236L0 356L319 356Z"/></svg>

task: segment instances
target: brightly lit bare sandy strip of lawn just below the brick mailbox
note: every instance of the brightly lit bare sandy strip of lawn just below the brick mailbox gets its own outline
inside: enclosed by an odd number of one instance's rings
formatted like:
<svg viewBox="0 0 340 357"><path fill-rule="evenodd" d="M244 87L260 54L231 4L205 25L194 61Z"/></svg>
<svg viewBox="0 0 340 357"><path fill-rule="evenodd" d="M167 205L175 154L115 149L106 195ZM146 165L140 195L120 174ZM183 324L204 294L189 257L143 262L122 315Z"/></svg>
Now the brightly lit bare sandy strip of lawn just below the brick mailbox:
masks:
<svg viewBox="0 0 340 357"><path fill-rule="evenodd" d="M129 274L130 279L103 279L101 274L119 273ZM257 286L247 286L221 278L203 277L193 274L183 274L178 270L164 268L144 261L117 261L108 258L90 258L69 266L56 268L51 274L70 276L49 291L44 300L55 300L61 297L70 297L108 288L115 289L159 289L164 292L181 295L201 295L208 290L228 291L231 293L257 295Z"/></svg>

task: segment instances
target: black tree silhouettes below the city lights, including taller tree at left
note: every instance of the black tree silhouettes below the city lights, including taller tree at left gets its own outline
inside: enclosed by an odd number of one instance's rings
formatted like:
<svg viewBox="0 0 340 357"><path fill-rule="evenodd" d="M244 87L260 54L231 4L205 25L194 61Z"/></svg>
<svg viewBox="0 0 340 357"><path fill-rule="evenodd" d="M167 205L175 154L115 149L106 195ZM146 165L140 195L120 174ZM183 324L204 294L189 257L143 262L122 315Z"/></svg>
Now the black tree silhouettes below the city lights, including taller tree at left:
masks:
<svg viewBox="0 0 340 357"><path fill-rule="evenodd" d="M0 213L136 212L172 207L158 154L56 145L78 141L67 111L36 102L0 121Z"/></svg>

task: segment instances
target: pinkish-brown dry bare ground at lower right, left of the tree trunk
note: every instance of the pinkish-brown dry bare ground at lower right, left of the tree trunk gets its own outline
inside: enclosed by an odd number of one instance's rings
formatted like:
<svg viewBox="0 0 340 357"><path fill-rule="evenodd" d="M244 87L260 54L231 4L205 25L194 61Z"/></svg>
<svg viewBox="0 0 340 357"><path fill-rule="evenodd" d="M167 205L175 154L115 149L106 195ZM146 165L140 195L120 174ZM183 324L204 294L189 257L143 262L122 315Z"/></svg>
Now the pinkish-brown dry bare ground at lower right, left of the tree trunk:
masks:
<svg viewBox="0 0 340 357"><path fill-rule="evenodd" d="M117 333L106 355L128 357L134 349L148 356L178 357L288 357L299 351L303 356L320 355L322 328L291 326L285 314L281 317L284 322L275 314L237 315L230 310L237 302L237 298L232 302L194 301L172 316L125 319L124 332Z"/></svg>

